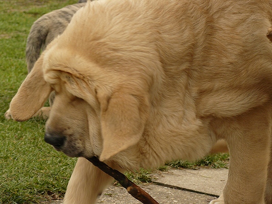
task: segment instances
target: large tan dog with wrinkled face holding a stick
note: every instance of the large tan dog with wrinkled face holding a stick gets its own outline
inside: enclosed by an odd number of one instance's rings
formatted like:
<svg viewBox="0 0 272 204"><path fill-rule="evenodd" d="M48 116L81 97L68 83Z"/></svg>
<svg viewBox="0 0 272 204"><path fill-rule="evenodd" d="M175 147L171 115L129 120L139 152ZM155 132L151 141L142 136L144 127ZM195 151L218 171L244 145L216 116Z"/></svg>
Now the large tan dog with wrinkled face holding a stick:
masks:
<svg viewBox="0 0 272 204"><path fill-rule="evenodd" d="M88 2L38 59L12 116L29 119L55 90L45 141L125 170L200 159L225 139L229 178L211 203L272 203L271 16L260 0ZM64 203L95 203L111 181L79 158Z"/></svg>

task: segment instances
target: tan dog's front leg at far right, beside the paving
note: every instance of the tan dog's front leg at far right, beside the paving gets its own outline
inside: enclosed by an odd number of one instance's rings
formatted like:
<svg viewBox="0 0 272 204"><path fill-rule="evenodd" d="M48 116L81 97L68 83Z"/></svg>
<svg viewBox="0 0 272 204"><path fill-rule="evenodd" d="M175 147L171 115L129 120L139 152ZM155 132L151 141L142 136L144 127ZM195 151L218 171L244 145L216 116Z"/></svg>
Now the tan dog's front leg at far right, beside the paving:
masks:
<svg viewBox="0 0 272 204"><path fill-rule="evenodd" d="M255 108L229 123L230 168L225 204L264 204L270 153L270 106Z"/></svg>

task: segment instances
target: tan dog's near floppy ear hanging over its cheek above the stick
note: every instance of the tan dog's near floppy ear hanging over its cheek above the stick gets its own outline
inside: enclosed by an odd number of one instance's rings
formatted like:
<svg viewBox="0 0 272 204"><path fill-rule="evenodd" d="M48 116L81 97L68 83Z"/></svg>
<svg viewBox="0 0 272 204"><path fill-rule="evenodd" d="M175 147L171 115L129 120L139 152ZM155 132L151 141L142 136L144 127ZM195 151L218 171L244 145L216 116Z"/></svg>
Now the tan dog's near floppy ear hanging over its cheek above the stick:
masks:
<svg viewBox="0 0 272 204"><path fill-rule="evenodd" d="M118 152L137 144L142 136L146 113L146 100L121 91L97 93L101 104L101 127L103 150L100 156L105 161Z"/></svg>

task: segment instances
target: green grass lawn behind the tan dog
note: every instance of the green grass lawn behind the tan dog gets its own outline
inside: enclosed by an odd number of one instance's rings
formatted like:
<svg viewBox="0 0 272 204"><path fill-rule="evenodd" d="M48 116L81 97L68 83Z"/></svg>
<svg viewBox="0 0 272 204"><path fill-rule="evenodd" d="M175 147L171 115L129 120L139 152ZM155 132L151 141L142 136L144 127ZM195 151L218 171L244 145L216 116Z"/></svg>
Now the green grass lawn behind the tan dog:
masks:
<svg viewBox="0 0 272 204"><path fill-rule="evenodd" d="M65 193L76 159L43 141L45 121L7 121L4 113L27 75L24 52L32 23L45 13L76 2L0 0L0 203L38 203L49 200L52 194L62 197ZM213 156L201 163L172 162L161 170L224 167L220 165L227 161L228 156ZM141 169L127 175L135 182L150 182L150 172Z"/></svg>

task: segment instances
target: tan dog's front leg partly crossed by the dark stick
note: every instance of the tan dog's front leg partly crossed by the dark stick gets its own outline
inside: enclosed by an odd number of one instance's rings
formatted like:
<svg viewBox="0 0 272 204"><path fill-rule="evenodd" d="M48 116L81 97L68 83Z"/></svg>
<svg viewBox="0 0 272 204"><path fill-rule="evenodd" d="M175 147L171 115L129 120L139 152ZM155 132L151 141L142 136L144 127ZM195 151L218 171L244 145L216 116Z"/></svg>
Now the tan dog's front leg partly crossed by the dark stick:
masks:
<svg viewBox="0 0 272 204"><path fill-rule="evenodd" d="M117 168L113 164L108 165ZM111 176L93 166L85 158L79 158L68 183L63 204L93 204L112 182Z"/></svg>

